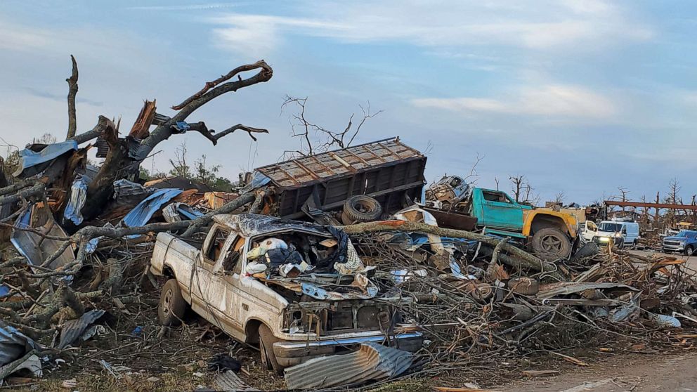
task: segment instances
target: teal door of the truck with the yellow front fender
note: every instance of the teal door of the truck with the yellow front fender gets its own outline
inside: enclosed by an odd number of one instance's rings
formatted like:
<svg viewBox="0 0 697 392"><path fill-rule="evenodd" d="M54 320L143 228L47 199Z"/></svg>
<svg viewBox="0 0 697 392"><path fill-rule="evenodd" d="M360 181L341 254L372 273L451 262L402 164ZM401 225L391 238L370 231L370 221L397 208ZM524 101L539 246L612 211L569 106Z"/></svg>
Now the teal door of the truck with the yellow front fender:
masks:
<svg viewBox="0 0 697 392"><path fill-rule="evenodd" d="M479 226L523 230L523 209L505 192L482 189L481 216Z"/></svg>

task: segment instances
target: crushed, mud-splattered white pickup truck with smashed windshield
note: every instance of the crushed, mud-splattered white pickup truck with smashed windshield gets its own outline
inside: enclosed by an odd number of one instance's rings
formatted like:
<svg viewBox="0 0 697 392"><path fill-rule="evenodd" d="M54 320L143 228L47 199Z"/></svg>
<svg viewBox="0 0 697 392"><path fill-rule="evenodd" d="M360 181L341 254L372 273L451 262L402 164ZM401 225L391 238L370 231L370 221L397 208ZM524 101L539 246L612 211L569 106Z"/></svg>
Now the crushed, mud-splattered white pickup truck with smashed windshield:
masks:
<svg viewBox="0 0 697 392"><path fill-rule="evenodd" d="M287 243L311 272L278 275L271 272L278 265L266 259L269 269L254 273L259 259L250 261L247 253L271 238ZM346 254L356 254L347 238L329 226L253 214L215 216L201 248L159 233L150 271L169 277L159 321L174 325L190 306L238 341L259 344L262 361L275 372L368 341L417 351L419 332L393 333L400 322L395 305L405 299L378 296L365 275L334 270Z"/></svg>

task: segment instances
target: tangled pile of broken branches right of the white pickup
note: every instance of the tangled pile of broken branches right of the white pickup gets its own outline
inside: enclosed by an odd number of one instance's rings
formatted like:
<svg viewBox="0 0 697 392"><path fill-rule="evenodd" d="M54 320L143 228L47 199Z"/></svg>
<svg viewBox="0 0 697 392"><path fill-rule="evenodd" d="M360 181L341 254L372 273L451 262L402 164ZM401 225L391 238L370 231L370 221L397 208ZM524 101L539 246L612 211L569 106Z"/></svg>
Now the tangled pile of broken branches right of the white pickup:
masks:
<svg viewBox="0 0 697 392"><path fill-rule="evenodd" d="M424 372L474 367L487 372L493 380L500 377L502 362L512 370L521 370L528 366L522 358L542 353L594 347L614 347L616 351L647 346L684 348L693 346L697 336L697 273L684 266L684 261L648 259L610 250L585 259L550 263L558 271L550 274L543 273L540 267L518 268L523 263L516 256L520 249L509 254L501 251L505 241L492 239L498 244L474 243L457 260L462 271L482 272L477 277L462 279L453 276L448 268L424 262L429 259L419 255L424 249L401 249L391 242L396 233L356 233L352 241L365 261L382 271L375 280L383 291L412 300L400 311L403 320L418 325L429 342L422 353L428 363ZM500 254L496 255L497 251ZM506 271L504 276L488 274L492 261L500 263L496 259L502 255L507 256L507 263L501 263ZM534 292L521 292L504 284L514 279L539 283L540 290L577 282L623 284L634 287L639 294L611 297L616 298L616 305L608 307L608 314L601 313L603 306L597 303L584 304L588 298L604 297L597 289L559 295L554 298L563 300L549 301ZM620 314L623 310L631 315L621 320L611 318L613 312ZM656 315L672 312L686 316L679 316L682 327L656 319ZM396 331L400 331L399 327Z"/></svg>

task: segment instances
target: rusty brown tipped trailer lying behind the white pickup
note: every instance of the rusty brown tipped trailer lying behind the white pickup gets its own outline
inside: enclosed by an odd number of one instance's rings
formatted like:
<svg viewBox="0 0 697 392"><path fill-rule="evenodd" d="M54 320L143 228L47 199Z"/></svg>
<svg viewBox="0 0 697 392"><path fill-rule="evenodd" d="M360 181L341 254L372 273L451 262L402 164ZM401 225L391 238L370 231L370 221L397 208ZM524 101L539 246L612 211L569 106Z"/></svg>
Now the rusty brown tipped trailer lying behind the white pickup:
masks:
<svg viewBox="0 0 697 392"><path fill-rule="evenodd" d="M384 212L402 209L405 199L419 199L426 157L389 138L342 150L292 159L256 169L275 185L273 205L282 218L304 216L306 202L330 211L354 195L374 197Z"/></svg>

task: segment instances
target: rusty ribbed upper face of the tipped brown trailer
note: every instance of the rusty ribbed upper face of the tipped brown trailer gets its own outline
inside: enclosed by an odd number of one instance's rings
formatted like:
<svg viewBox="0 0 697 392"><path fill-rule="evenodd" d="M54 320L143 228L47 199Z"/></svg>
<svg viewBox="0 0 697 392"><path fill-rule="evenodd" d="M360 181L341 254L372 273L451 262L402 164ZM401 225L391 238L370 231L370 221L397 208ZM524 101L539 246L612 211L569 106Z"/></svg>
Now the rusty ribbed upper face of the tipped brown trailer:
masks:
<svg viewBox="0 0 697 392"><path fill-rule="evenodd" d="M271 178L274 185L290 189L421 157L421 152L393 138L271 164L256 171Z"/></svg>

